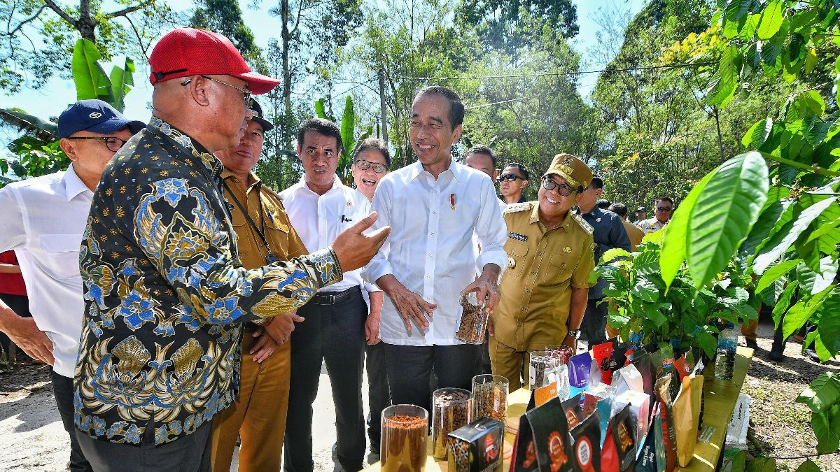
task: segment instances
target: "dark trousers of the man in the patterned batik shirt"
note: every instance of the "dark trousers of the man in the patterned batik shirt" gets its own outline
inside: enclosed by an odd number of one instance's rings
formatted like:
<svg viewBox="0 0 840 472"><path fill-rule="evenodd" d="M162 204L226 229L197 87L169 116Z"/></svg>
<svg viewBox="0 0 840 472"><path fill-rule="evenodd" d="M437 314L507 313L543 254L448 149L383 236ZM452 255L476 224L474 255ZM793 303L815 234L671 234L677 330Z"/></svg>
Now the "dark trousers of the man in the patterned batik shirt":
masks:
<svg viewBox="0 0 840 472"><path fill-rule="evenodd" d="M139 446L95 439L76 430L81 449L97 472L210 472L210 432L205 422L195 432L171 443L155 446L155 427L146 427Z"/></svg>

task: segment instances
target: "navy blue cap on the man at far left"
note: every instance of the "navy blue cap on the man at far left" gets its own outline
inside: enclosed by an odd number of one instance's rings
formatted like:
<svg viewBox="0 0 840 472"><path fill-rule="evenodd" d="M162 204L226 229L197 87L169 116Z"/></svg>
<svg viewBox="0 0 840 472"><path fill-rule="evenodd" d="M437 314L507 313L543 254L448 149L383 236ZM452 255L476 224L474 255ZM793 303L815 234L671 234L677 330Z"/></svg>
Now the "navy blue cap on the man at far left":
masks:
<svg viewBox="0 0 840 472"><path fill-rule="evenodd" d="M142 121L126 119L123 113L102 100L80 100L61 112L58 135L59 138L67 138L78 131L110 134L125 127L134 134L145 126Z"/></svg>

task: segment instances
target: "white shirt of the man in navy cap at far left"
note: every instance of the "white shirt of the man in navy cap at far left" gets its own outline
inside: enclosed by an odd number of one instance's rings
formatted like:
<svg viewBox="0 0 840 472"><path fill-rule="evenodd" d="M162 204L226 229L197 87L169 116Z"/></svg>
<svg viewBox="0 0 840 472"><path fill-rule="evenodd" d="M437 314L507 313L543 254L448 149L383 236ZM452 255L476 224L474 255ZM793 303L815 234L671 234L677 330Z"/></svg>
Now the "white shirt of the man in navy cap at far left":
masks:
<svg viewBox="0 0 840 472"><path fill-rule="evenodd" d="M53 369L71 378L85 308L79 247L92 198L72 165L0 190L0 252L18 255L29 312L53 344Z"/></svg>

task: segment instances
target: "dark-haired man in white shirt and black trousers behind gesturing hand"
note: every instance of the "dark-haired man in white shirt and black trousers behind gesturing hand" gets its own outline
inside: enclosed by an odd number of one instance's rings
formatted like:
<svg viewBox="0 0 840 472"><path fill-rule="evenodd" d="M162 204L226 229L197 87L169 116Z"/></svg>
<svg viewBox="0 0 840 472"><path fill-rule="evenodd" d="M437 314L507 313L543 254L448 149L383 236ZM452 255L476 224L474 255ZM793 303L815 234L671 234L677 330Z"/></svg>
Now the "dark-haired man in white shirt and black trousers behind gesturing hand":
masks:
<svg viewBox="0 0 840 472"><path fill-rule="evenodd" d="M344 228L370 213L367 198L345 186L335 174L341 149L341 132L333 122L312 118L298 129L297 155L303 164L303 177L281 191L280 197L291 226L309 252L329 247ZM283 459L287 471L311 471L313 467L312 402L318 395L322 359L333 387L339 464L348 471L362 468L365 457L362 353L365 321L371 313L362 290L378 290L364 285L360 270L344 272L343 281L318 290L297 311L304 321L297 323L291 336L289 412ZM376 315L372 313L370 319L375 320ZM379 327L368 329L376 332ZM371 335L375 337L375 333Z"/></svg>

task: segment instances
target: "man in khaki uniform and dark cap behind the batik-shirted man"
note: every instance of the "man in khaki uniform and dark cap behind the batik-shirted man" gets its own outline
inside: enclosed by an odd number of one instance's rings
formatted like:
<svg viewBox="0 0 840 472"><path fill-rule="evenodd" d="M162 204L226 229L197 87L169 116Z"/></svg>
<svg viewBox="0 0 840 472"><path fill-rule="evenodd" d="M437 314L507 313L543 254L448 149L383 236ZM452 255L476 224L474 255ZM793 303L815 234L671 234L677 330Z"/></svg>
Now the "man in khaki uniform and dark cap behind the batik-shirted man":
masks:
<svg viewBox="0 0 840 472"><path fill-rule="evenodd" d="M291 227L280 197L263 186L251 171L260 160L263 133L274 126L253 102L251 118L239 145L218 153L224 170L224 197L228 200L237 248L245 269L275 260L308 254ZM247 210L248 216L245 216ZM292 313L265 325L245 323L239 395L234 404L213 418L213 470L229 470L236 438L241 436L239 470L280 470L289 401Z"/></svg>

